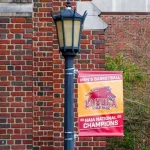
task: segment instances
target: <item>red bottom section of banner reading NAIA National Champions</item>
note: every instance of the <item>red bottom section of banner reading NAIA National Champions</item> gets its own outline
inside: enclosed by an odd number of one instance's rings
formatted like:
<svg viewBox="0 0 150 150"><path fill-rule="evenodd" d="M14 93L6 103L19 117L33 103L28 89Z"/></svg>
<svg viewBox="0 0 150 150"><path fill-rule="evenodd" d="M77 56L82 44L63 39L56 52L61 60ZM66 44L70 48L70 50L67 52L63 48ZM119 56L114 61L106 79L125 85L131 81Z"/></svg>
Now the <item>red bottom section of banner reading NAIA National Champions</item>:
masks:
<svg viewBox="0 0 150 150"><path fill-rule="evenodd" d="M123 114L79 117L80 136L123 136Z"/></svg>

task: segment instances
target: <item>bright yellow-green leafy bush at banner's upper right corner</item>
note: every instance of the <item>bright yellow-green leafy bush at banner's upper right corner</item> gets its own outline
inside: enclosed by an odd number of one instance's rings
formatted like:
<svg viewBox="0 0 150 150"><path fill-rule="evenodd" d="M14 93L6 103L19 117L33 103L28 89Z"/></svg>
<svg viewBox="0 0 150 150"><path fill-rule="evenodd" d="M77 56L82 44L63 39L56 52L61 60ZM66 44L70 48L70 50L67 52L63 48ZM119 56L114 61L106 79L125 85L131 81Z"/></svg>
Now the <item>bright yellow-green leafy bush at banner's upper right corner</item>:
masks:
<svg viewBox="0 0 150 150"><path fill-rule="evenodd" d="M142 69L126 58L123 53L116 57L106 56L106 70L123 71L124 88L131 89L133 84L138 84L146 79Z"/></svg>

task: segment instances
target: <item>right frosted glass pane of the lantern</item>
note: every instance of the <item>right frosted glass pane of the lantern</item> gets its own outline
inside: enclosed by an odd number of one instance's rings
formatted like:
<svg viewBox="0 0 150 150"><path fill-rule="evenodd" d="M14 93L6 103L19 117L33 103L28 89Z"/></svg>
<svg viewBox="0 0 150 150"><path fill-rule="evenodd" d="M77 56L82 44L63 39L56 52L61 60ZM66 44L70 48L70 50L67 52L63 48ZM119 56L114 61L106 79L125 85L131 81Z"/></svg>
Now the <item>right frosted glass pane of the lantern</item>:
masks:
<svg viewBox="0 0 150 150"><path fill-rule="evenodd" d="M74 46L78 47L80 35L80 21L74 21Z"/></svg>

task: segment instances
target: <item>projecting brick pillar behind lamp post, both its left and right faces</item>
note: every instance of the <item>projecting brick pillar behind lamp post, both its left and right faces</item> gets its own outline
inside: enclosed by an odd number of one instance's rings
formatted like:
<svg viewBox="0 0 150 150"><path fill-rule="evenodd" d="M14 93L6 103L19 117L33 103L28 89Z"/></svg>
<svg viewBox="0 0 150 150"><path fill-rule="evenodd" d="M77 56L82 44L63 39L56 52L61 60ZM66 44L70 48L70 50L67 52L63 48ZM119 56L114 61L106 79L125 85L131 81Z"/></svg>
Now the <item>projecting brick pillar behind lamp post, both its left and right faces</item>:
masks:
<svg viewBox="0 0 150 150"><path fill-rule="evenodd" d="M34 2L34 148L63 149L64 59L58 50L56 30L50 11L65 7L62 1ZM76 2L72 2L76 6ZM75 59L76 69L104 68L104 31L83 31L81 54ZM75 79L76 82L76 79ZM75 121L77 121L77 85L75 84ZM77 122L75 122L77 132ZM96 150L105 147L103 138L76 139L76 149ZM101 141L102 140L102 141ZM95 141L95 142L94 142ZM94 148L93 148L94 147Z"/></svg>

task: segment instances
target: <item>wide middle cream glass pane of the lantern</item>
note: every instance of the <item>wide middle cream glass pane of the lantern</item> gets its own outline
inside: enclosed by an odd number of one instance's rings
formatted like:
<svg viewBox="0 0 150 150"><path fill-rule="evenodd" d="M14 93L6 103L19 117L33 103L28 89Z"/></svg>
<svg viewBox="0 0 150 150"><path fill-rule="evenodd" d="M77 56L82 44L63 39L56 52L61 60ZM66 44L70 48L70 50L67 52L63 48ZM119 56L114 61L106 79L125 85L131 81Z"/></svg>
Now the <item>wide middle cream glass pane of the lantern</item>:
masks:
<svg viewBox="0 0 150 150"><path fill-rule="evenodd" d="M72 20L64 20L65 46L72 46Z"/></svg>

